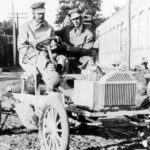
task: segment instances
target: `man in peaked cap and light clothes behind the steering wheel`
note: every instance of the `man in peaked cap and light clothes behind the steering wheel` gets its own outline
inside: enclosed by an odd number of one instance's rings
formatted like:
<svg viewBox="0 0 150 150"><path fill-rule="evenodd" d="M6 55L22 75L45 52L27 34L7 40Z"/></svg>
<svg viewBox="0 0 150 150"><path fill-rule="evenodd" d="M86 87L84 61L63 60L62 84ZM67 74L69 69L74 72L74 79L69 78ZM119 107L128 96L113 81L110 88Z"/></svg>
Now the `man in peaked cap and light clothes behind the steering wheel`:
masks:
<svg viewBox="0 0 150 150"><path fill-rule="evenodd" d="M50 62L48 54L35 48L37 40L54 36L53 27L44 19L44 5L44 2L34 3L31 6L33 19L20 28L18 37L19 63L25 71L34 75L40 74L48 89L52 90L59 83L59 75L54 64Z"/></svg>

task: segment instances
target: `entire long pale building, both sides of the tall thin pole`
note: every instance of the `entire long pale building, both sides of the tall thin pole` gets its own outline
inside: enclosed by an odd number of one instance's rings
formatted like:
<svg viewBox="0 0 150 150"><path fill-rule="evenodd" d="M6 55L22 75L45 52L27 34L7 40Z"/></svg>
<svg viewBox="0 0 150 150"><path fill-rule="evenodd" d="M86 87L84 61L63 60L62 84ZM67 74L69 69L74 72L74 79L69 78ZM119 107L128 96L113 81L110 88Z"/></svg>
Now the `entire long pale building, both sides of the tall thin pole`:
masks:
<svg viewBox="0 0 150 150"><path fill-rule="evenodd" d="M129 33L128 4L110 17L99 30L99 63L102 67L111 67L115 62L128 60L130 67L141 64L147 57L150 64L150 1L131 0L131 32ZM131 45L129 45L131 34ZM129 53L129 47L131 50Z"/></svg>

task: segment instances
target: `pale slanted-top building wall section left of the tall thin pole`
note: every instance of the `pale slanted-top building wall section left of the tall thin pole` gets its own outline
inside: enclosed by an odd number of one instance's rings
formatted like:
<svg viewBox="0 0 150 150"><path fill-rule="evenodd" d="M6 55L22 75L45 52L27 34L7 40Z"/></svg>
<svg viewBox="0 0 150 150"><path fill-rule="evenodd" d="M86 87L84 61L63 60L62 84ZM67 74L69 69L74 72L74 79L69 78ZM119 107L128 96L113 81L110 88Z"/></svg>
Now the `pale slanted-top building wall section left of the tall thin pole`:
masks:
<svg viewBox="0 0 150 150"><path fill-rule="evenodd" d="M99 27L99 63L101 66L111 67L112 64L120 62L122 54L126 55L126 39L127 7L124 7Z"/></svg>

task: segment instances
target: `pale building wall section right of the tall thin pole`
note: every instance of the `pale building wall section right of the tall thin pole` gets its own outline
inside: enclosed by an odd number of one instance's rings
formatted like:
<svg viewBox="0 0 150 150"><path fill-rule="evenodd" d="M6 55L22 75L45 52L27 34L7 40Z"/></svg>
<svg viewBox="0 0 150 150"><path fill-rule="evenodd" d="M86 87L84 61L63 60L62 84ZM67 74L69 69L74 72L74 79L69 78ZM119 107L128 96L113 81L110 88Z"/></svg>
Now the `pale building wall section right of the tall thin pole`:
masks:
<svg viewBox="0 0 150 150"><path fill-rule="evenodd" d="M147 57L150 67L150 1L132 0L131 5L131 67Z"/></svg>

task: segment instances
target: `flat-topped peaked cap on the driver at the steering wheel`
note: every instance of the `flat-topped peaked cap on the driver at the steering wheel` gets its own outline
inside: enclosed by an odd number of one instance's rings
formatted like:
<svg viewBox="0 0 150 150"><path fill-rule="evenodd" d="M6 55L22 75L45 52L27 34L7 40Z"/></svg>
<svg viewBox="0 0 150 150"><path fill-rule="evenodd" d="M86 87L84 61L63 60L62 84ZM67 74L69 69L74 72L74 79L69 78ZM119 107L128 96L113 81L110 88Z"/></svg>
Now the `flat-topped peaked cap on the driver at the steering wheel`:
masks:
<svg viewBox="0 0 150 150"><path fill-rule="evenodd" d="M45 2L37 2L31 5L31 8L37 13L45 13Z"/></svg>

